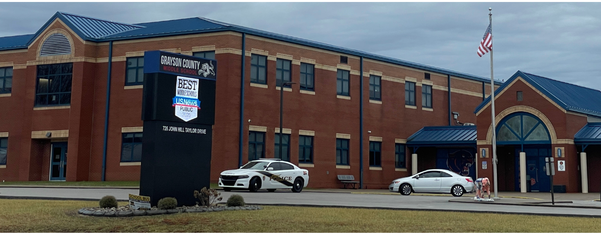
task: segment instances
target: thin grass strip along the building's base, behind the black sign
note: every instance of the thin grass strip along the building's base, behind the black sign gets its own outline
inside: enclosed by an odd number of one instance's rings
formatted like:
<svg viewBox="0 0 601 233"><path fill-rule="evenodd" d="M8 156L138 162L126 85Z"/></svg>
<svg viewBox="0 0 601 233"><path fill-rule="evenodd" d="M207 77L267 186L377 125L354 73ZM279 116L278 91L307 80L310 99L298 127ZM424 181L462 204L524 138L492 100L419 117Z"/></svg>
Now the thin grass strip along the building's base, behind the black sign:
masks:
<svg viewBox="0 0 601 233"><path fill-rule="evenodd" d="M2 186L87 186L87 187L139 187L140 181L7 181ZM211 184L212 189L219 186Z"/></svg>

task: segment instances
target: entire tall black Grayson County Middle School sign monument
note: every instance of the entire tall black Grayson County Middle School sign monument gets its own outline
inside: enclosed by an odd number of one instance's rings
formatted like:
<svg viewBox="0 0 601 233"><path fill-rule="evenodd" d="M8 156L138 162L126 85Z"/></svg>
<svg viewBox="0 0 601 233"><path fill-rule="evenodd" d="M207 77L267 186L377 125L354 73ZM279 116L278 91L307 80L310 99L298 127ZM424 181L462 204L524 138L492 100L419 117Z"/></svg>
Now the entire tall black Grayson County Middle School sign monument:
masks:
<svg viewBox="0 0 601 233"><path fill-rule="evenodd" d="M216 73L213 59L144 53L140 195L152 206L195 205L194 190L209 188Z"/></svg>

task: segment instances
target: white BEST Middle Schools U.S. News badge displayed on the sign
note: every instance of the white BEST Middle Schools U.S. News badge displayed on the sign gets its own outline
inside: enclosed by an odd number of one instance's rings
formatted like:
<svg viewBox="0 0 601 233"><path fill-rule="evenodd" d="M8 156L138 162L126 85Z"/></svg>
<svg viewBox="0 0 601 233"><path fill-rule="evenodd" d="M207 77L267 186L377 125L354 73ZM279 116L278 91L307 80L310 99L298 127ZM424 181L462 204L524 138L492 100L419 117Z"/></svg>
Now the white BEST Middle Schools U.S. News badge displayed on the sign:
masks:
<svg viewBox="0 0 601 233"><path fill-rule="evenodd" d="M175 107L175 116L186 122L198 117L198 79L177 76L172 106Z"/></svg>

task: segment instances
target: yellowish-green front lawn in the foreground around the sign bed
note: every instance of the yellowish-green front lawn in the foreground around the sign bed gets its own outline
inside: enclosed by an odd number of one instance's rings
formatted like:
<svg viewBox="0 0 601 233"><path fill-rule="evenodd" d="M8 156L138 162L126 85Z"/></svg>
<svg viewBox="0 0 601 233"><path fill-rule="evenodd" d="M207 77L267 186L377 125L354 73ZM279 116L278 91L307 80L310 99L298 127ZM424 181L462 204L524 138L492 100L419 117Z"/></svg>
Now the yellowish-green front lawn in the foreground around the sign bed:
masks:
<svg viewBox="0 0 601 233"><path fill-rule="evenodd" d="M125 204L120 203L120 205ZM87 201L0 199L0 232L600 232L601 221L359 208L264 207L258 211L107 218L79 216ZM482 224L477 224L482 223Z"/></svg>

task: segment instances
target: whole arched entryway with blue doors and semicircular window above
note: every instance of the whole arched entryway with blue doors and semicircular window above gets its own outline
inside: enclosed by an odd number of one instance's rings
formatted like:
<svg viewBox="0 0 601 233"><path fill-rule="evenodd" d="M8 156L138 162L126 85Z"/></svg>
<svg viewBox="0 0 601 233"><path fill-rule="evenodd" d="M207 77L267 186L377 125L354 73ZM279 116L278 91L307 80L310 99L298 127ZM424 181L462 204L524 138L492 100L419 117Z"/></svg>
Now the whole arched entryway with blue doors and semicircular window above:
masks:
<svg viewBox="0 0 601 233"><path fill-rule="evenodd" d="M520 152L526 153L526 181L532 192L549 192L545 157L551 156L551 135L537 116L514 112L496 127L499 190L520 191Z"/></svg>

